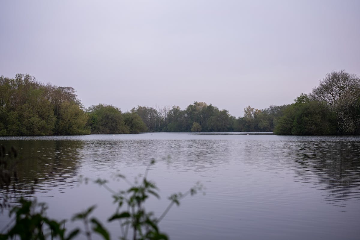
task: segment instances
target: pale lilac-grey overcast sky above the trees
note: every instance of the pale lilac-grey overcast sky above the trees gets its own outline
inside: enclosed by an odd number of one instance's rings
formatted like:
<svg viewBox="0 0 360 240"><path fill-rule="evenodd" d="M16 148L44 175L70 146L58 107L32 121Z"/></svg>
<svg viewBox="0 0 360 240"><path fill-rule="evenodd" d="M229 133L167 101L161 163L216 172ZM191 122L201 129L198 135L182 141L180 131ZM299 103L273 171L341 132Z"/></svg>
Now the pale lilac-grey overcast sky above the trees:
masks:
<svg viewBox="0 0 360 240"><path fill-rule="evenodd" d="M0 1L0 75L71 86L89 107L292 103L360 74L360 1Z"/></svg>

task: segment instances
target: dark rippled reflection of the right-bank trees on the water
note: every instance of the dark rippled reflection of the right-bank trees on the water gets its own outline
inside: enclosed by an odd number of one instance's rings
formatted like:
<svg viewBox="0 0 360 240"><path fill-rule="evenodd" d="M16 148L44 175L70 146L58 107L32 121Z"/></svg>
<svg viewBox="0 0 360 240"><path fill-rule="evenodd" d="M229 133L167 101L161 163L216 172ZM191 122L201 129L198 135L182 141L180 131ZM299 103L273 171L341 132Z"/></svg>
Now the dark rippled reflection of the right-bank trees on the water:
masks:
<svg viewBox="0 0 360 240"><path fill-rule="evenodd" d="M359 152L357 141L299 141L293 151L295 162L300 166L297 181L320 184L328 194L324 200L334 204L359 200Z"/></svg>

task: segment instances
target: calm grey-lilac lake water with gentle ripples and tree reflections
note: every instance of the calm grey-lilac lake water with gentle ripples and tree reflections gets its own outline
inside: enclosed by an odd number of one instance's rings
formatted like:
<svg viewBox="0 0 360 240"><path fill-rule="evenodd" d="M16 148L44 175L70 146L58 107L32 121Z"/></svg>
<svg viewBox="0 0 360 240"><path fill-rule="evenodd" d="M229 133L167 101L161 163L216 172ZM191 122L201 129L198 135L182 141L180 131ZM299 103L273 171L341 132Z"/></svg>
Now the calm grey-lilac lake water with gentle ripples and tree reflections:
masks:
<svg viewBox="0 0 360 240"><path fill-rule="evenodd" d="M161 199L147 209L157 216L170 194L206 186L206 195L181 200L160 223L172 240L360 238L360 137L145 133L1 137L0 144L17 147L25 191L37 177L34 196L59 220L93 204L100 219L114 212L111 194L79 184L79 175L133 180L155 158L148 178ZM108 228L116 239L118 225Z"/></svg>

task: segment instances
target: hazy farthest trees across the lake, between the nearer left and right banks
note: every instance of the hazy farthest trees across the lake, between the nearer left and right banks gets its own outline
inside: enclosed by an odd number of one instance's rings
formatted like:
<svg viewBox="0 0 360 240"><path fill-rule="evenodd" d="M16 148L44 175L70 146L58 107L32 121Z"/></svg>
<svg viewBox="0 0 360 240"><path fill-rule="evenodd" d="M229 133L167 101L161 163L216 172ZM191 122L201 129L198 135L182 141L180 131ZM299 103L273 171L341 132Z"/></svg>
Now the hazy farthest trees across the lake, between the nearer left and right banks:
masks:
<svg viewBox="0 0 360 240"><path fill-rule="evenodd" d="M155 132L240 132L273 131L276 120L282 116L288 105L267 109L254 109L248 106L243 117L234 117L228 110L219 110L205 102L194 102L181 110L179 106L167 106L155 109L138 106L131 112L143 119L149 131Z"/></svg>

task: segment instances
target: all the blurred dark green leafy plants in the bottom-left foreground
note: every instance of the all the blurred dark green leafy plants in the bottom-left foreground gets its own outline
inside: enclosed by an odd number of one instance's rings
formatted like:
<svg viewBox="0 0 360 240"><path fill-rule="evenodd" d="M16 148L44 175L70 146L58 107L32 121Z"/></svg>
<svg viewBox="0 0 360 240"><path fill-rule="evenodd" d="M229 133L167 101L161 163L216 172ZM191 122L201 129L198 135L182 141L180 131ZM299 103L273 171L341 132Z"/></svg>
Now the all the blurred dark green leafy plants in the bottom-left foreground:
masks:
<svg viewBox="0 0 360 240"><path fill-rule="evenodd" d="M141 176L141 181L135 179L135 182L131 183L125 176L121 174L115 175L115 178L123 179L129 184L129 189L127 190L114 191L108 186L108 180L105 179L80 177L80 182L88 183L91 181L104 187L112 194L116 211L107 221L118 221L120 223L121 236L119 236L118 239L168 239L168 236L159 230L159 222L166 216L174 204L180 204L182 198L203 191L203 186L197 183L185 193L172 194L168 198L170 203L167 208L160 217L155 217L153 212L149 212L144 208L144 203L150 196L160 198L156 184L147 179L148 171L154 163L155 160L150 161L144 176ZM9 184L11 184L11 181L12 178L10 177ZM5 226L4 229L1 229L0 240L16 239L16 237L22 240L70 240L79 234L84 234L88 240L92 240L93 234L98 234L105 240L111 239L109 231L103 224L97 218L91 216L95 206L91 206L83 212L74 214L72 221L82 221L84 223L84 229L76 228L69 232L69 234L66 234L68 231L65 227L67 220L57 221L49 219L46 217L46 209L47 206L45 203L37 203L36 200L20 198L18 204L10 210L9 216L15 216L11 218L10 223ZM6 233L3 234L5 230Z"/></svg>

